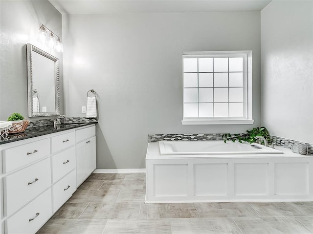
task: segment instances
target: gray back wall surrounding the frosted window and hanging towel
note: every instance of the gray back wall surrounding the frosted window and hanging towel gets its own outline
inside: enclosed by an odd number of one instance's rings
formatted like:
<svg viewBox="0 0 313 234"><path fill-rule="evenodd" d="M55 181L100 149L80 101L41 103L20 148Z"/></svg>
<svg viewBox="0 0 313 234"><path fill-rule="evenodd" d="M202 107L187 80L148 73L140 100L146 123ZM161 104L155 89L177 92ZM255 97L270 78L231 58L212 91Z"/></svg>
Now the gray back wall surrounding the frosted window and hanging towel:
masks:
<svg viewBox="0 0 313 234"><path fill-rule="evenodd" d="M145 168L147 135L260 126L260 12L63 16L67 116L98 97L97 168ZM182 52L253 51L251 125L182 126Z"/></svg>

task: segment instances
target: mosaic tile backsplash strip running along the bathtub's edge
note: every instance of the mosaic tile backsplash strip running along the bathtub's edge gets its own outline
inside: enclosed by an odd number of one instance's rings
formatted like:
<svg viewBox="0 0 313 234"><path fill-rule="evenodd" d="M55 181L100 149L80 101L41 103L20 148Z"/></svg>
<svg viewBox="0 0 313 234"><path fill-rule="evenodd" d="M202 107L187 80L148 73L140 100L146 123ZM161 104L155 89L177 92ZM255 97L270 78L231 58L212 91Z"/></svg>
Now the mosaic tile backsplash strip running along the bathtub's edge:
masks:
<svg viewBox="0 0 313 234"><path fill-rule="evenodd" d="M240 137L244 138L248 135L246 133L236 133ZM223 133L195 133L195 134L151 134L148 135L148 142L158 141L222 141ZM233 134L232 134L233 135ZM235 138L235 137L234 137ZM291 149L294 144L306 144L308 145L309 154L313 154L313 144L285 139L278 136L271 136L271 141L276 146Z"/></svg>

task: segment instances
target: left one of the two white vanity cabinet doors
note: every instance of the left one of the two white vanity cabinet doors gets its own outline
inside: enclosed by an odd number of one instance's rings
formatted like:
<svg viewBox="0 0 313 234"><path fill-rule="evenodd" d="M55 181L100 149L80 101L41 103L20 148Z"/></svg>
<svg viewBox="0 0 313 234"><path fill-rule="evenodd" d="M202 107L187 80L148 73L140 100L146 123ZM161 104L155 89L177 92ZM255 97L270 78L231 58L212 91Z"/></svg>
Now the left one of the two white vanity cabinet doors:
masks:
<svg viewBox="0 0 313 234"><path fill-rule="evenodd" d="M86 179L86 141L76 145L76 180L77 187Z"/></svg>

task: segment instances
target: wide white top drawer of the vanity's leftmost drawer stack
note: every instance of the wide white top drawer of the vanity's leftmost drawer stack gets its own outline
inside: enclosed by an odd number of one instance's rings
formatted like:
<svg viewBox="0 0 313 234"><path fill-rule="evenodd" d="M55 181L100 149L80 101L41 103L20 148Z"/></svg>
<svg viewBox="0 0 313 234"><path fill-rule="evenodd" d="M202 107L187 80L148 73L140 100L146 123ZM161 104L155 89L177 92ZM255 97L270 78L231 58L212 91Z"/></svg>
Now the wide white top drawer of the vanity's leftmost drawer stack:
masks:
<svg viewBox="0 0 313 234"><path fill-rule="evenodd" d="M18 169L50 154L50 139L3 150L3 172Z"/></svg>

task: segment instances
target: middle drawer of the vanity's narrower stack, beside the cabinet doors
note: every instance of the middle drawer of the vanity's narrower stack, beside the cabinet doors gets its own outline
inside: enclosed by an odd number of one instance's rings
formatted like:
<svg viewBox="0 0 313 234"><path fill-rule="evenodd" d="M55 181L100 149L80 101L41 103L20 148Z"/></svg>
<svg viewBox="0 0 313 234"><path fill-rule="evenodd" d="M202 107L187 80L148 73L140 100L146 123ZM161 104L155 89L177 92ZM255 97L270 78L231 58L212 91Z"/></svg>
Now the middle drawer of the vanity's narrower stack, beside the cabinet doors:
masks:
<svg viewBox="0 0 313 234"><path fill-rule="evenodd" d="M52 156L52 181L57 182L76 167L75 147Z"/></svg>

